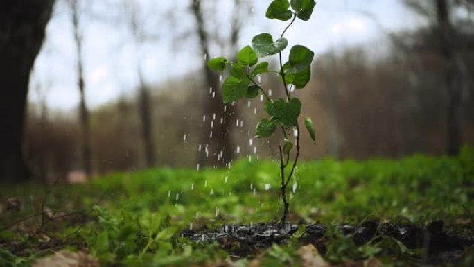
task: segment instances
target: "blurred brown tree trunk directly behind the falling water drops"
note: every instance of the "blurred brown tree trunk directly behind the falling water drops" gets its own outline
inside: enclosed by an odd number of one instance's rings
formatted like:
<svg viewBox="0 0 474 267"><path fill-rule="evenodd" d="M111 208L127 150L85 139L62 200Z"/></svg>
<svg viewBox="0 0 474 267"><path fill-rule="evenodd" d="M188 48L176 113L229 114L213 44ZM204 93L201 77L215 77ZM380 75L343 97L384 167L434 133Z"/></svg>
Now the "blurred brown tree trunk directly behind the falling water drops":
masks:
<svg viewBox="0 0 474 267"><path fill-rule="evenodd" d="M234 158L234 149L231 142L230 128L235 115L232 105L225 105L220 94L218 76L207 67L209 55L209 38L204 29L204 19L200 0L193 0L191 10L198 23L198 38L201 55L204 57L204 82L211 92L206 94L204 101L204 127L201 134L202 153L198 158L200 166L226 166Z"/></svg>

